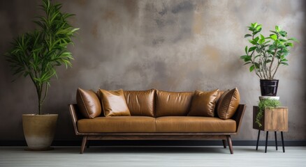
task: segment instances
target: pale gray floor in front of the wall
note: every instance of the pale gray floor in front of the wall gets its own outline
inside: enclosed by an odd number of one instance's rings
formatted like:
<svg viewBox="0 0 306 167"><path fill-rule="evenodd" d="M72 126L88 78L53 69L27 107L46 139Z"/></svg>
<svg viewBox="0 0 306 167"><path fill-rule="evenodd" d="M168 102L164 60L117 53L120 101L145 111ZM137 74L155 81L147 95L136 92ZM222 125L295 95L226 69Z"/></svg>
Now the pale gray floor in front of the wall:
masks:
<svg viewBox="0 0 306 167"><path fill-rule="evenodd" d="M22 147L0 147L0 166L306 166L306 147L234 146L212 147L92 147L79 154L79 147L56 147L45 152Z"/></svg>

